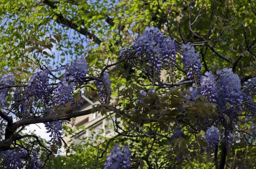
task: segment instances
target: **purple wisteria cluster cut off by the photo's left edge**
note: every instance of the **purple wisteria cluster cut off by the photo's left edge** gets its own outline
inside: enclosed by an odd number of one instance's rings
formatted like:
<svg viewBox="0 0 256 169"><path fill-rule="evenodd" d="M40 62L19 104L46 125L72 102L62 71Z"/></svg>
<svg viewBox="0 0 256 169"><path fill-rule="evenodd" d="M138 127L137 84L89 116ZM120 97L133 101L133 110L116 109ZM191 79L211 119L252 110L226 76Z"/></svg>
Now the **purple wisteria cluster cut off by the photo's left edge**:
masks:
<svg viewBox="0 0 256 169"><path fill-rule="evenodd" d="M15 77L13 76L13 73L7 73L0 77L0 88L6 87L9 85L15 84ZM0 89L0 107L5 108L6 107L6 97L9 95L10 88L4 88Z"/></svg>

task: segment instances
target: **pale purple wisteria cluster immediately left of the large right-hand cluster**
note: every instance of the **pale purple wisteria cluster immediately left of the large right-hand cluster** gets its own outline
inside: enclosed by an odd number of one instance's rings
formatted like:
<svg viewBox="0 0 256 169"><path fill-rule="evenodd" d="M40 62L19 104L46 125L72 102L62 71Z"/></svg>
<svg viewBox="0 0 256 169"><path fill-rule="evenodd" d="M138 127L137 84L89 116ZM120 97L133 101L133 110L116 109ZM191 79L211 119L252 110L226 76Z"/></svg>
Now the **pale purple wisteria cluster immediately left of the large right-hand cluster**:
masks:
<svg viewBox="0 0 256 169"><path fill-rule="evenodd" d="M200 93L210 102L216 102L218 97L217 81L211 71L205 72L200 78Z"/></svg>

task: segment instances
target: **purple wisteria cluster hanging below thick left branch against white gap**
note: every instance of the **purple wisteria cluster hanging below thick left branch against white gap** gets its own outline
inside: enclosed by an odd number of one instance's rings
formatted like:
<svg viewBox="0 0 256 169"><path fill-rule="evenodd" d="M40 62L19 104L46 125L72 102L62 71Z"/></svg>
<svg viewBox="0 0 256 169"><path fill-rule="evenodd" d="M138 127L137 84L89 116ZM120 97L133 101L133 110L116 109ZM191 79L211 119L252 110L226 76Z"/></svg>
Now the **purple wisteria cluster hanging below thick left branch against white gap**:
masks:
<svg viewBox="0 0 256 169"><path fill-rule="evenodd" d="M51 140L49 142L54 143L55 141L60 141L62 138L61 130L63 129L61 121L48 122L44 124L47 129L47 133L50 133L49 137L51 137Z"/></svg>

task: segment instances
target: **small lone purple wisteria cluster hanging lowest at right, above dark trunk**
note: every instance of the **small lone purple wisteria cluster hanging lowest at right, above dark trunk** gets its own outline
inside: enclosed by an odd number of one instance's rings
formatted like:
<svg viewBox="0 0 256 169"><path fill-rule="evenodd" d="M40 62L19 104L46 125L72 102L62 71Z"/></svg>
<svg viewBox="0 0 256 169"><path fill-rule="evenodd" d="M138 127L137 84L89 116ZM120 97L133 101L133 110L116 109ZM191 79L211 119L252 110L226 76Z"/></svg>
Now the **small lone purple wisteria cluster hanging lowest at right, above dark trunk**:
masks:
<svg viewBox="0 0 256 169"><path fill-rule="evenodd" d="M221 136L219 129L217 127L210 127L206 131L206 141L208 143L207 151L211 149L215 150L219 144L219 137Z"/></svg>

